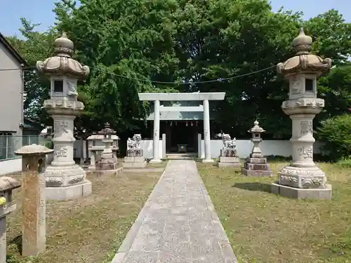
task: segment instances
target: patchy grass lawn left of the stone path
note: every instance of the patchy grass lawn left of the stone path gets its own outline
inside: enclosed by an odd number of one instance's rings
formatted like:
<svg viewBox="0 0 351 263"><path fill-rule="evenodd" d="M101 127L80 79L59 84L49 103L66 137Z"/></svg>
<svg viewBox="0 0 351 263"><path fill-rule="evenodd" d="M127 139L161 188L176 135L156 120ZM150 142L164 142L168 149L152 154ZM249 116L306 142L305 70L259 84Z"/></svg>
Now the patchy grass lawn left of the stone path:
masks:
<svg viewBox="0 0 351 263"><path fill-rule="evenodd" d="M160 175L146 171L91 174L87 176L93 183L91 196L48 201L46 252L30 260L20 256L22 210L20 190L16 191L18 209L7 220L7 252L13 260L9 262L111 262Z"/></svg>

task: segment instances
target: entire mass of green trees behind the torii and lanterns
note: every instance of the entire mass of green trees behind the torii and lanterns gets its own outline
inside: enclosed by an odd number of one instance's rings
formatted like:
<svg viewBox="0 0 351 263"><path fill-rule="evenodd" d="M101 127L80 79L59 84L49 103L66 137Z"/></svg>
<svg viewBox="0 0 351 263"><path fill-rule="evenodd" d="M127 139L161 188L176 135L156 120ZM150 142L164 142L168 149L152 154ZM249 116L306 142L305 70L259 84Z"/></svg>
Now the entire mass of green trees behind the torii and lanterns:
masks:
<svg viewBox="0 0 351 263"><path fill-rule="evenodd" d="M90 76L78 87L79 99L86 104L84 115L76 121L79 130L100 130L105 121L119 133L140 126L137 120L145 118L149 105L139 102L138 92L224 91L224 102L211 103L220 129L246 135L258 118L266 130L289 137L291 121L281 109L287 83L277 77L274 65L295 55L291 41L299 27L312 36L312 51L333 59L335 65L344 65L350 54L350 24L333 10L303 21L302 13L273 13L267 0L80 3L58 1L55 29L41 35L28 27L27 41L21 43L28 45L36 61L52 54L44 55L43 45L58 36L56 30L67 32L74 41L74 58L91 67ZM52 44L46 43L48 47ZM240 77L221 81L230 76ZM319 87L326 110L338 114L331 109L340 101L335 94L343 93L346 105L349 91L345 91L347 81L336 86L332 76L337 74L322 78ZM42 91L33 86L30 94L45 97L44 85L40 87Z"/></svg>

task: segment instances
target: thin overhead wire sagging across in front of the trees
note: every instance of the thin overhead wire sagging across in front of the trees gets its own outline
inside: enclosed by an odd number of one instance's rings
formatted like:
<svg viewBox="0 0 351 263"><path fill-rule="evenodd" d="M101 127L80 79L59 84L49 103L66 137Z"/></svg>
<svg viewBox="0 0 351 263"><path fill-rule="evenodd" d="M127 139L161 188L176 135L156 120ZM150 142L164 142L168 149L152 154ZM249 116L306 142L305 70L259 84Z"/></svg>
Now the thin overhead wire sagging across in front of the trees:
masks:
<svg viewBox="0 0 351 263"><path fill-rule="evenodd" d="M136 78L130 78L128 76L123 76L123 75L119 75L119 74L115 74L113 72L105 72L101 69L96 69L100 72L103 72L103 73L107 73L107 74L111 74L113 76L118 76L120 78L124 78L124 79L129 79L131 81L144 81L144 82L150 82L150 83L157 83L157 84L183 84L183 85L186 85L186 84L201 84L201 83L213 83L213 82L222 82L222 81L228 81L230 79L237 79L237 78L241 78L243 76L249 76L249 75L252 75L252 74L256 74L258 72L264 72L268 69L272 69L273 67L276 67L276 65L274 66L270 66L270 67L265 67L264 69L259 69L259 70L256 70L254 72L249 72L249 73L246 73L246 74L241 74L241 75L237 75L237 76L230 76L228 78L218 78L218 79L211 79L211 80L208 80L208 81L180 81L180 82L168 82L168 81L150 81L148 79L136 79ZM0 72L3 72L3 71L11 71L11 70L27 70L27 69L32 69L34 67L22 67L21 69L0 69ZM92 69L92 68L91 68Z"/></svg>

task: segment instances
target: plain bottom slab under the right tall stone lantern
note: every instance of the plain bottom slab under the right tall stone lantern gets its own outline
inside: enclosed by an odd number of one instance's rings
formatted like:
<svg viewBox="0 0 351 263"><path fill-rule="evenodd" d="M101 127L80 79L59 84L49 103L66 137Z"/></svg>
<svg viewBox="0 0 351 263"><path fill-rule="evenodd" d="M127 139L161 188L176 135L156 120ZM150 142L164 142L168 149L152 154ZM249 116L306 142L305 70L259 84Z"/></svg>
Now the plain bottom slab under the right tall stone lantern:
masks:
<svg viewBox="0 0 351 263"><path fill-rule="evenodd" d="M331 200L332 191L331 184L326 184L326 188L295 188L274 182L271 184L272 194L295 198L295 199L315 199L315 200Z"/></svg>

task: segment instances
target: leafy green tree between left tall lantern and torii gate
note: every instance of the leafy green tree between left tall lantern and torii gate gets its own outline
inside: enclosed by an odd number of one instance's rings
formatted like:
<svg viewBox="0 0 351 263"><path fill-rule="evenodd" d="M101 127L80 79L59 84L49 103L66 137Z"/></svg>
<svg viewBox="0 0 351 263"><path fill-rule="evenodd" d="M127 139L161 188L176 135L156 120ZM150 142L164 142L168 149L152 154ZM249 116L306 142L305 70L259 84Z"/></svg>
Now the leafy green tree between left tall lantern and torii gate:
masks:
<svg viewBox="0 0 351 263"><path fill-rule="evenodd" d="M91 98L90 121L109 121L118 132L145 118L138 92L174 92L150 81L176 81L173 1L74 1L56 3L57 27L74 41L77 59L91 67L84 92Z"/></svg>

